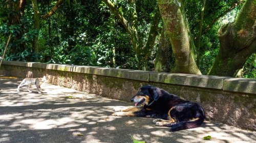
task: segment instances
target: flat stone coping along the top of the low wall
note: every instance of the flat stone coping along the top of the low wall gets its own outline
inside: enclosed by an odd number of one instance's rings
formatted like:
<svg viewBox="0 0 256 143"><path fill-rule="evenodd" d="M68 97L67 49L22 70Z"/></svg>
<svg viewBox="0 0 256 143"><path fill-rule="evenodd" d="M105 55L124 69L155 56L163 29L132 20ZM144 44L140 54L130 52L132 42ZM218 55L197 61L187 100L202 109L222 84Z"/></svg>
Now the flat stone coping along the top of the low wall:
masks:
<svg viewBox="0 0 256 143"><path fill-rule="evenodd" d="M3 61L3 64L256 94L256 79L160 73L154 71L39 62Z"/></svg>

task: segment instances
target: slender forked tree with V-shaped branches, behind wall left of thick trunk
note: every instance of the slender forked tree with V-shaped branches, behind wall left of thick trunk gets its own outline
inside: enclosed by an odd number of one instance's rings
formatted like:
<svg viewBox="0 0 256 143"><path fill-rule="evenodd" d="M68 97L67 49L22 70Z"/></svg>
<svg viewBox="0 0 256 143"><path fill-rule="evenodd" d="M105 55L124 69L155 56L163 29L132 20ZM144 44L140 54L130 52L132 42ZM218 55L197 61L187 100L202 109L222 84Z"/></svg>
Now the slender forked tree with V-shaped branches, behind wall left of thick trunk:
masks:
<svg viewBox="0 0 256 143"><path fill-rule="evenodd" d="M155 16L151 22L151 29L148 34L147 41L144 44L141 40L142 37L138 35L138 17L135 4L136 1L129 0L130 6L134 9L134 11L131 12L131 21L127 21L120 10L110 0L102 1L106 4L106 6L110 8L111 12L115 14L116 18L120 20L127 33L130 35L131 42L138 59L138 69L147 70L148 57L152 52L155 39L159 31L158 25L161 19L159 10L156 10Z"/></svg>

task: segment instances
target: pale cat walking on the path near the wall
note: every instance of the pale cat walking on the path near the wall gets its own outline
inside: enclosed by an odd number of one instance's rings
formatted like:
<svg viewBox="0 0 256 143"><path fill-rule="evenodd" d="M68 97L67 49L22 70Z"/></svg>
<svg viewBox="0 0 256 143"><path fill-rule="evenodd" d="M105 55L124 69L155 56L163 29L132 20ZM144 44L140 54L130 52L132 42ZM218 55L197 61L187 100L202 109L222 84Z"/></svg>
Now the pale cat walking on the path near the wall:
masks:
<svg viewBox="0 0 256 143"><path fill-rule="evenodd" d="M22 81L22 83L19 84L17 91L19 92L19 87L22 87L23 85L28 85L28 91L32 92L29 90L31 85L35 85L37 88L38 93L41 93L41 84L46 82L46 76L42 78L26 78Z"/></svg>

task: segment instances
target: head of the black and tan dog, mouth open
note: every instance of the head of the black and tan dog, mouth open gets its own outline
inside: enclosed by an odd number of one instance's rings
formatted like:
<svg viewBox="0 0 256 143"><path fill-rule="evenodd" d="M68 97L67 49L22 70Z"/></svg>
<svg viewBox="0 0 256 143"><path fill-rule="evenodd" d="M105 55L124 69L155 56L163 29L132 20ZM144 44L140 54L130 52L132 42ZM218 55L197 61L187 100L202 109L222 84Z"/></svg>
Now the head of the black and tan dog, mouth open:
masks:
<svg viewBox="0 0 256 143"><path fill-rule="evenodd" d="M159 88L151 85L140 87L137 94L131 99L135 106L150 105L152 102L159 99Z"/></svg>

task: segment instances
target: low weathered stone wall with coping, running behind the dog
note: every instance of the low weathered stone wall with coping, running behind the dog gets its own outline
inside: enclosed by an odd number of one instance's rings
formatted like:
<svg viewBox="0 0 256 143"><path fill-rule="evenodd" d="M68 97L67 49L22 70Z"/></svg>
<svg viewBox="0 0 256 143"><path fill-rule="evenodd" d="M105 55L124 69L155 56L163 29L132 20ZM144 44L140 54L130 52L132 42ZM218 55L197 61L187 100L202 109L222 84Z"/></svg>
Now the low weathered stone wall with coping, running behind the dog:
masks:
<svg viewBox="0 0 256 143"><path fill-rule="evenodd" d="M130 101L140 86L151 84L200 103L207 120L256 130L254 79L18 61L4 61L1 68L6 76L46 75L51 84L124 101Z"/></svg>

